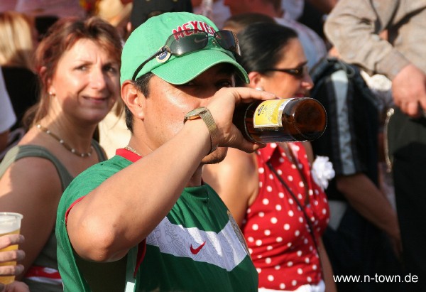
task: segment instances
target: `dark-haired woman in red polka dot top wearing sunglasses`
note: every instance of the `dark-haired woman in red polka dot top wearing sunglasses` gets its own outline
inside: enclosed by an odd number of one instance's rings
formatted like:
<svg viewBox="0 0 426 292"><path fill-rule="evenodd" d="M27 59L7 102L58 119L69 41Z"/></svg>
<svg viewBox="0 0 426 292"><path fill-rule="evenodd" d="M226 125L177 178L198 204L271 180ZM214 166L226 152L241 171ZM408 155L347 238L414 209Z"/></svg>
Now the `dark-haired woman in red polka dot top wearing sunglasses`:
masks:
<svg viewBox="0 0 426 292"><path fill-rule="evenodd" d="M238 38L237 60L249 72L249 87L278 97L307 96L313 84L295 31L254 23ZM293 70L271 70L276 68ZM312 177L312 161L309 142L288 142L268 144L256 153L229 148L222 163L204 166L204 180L217 190L246 238L259 291L320 292L326 286L336 291L321 240L329 207Z"/></svg>

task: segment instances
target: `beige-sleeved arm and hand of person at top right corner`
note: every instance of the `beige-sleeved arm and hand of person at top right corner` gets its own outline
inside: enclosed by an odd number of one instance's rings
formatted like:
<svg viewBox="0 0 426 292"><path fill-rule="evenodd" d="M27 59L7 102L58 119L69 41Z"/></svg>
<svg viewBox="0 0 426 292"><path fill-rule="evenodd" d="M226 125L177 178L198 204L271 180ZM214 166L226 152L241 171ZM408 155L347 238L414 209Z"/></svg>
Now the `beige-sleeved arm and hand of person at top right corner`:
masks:
<svg viewBox="0 0 426 292"><path fill-rule="evenodd" d="M389 77L396 106L411 117L419 117L419 105L426 110L425 72L378 36L395 16L398 5L393 0L340 0L324 23L324 33L346 63Z"/></svg>

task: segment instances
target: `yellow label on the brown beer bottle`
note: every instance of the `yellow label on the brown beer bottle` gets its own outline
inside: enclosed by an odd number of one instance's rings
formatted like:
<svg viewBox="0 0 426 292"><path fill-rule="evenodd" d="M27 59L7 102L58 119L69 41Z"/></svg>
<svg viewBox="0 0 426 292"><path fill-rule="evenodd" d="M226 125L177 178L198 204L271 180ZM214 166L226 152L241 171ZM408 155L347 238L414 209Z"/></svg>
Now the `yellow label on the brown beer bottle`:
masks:
<svg viewBox="0 0 426 292"><path fill-rule="evenodd" d="M255 129L283 126L283 110L293 98L265 100L256 107L253 117Z"/></svg>

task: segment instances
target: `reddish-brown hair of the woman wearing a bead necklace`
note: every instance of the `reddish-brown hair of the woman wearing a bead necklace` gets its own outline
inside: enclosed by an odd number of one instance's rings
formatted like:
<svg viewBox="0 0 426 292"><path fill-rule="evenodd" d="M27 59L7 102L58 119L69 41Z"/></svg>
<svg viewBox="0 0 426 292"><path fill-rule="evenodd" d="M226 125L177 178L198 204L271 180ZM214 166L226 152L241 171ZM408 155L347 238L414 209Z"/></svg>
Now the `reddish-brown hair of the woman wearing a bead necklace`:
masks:
<svg viewBox="0 0 426 292"><path fill-rule="evenodd" d="M48 80L53 78L63 53L77 40L87 38L107 50L121 64L121 38L114 26L97 16L86 20L62 18L53 24L35 50L35 70L40 80L38 103L28 109L23 119L25 126L33 126L45 117L49 109ZM41 69L43 68L43 72Z"/></svg>

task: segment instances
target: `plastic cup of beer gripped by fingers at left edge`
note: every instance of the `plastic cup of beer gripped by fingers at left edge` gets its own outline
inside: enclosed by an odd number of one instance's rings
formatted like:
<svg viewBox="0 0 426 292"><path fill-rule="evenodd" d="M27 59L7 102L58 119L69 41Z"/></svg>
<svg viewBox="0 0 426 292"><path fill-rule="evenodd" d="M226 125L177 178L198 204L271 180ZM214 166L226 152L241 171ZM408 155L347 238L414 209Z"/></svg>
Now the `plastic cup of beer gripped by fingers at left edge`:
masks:
<svg viewBox="0 0 426 292"><path fill-rule="evenodd" d="M12 212L0 212L0 237L7 234L19 234L21 230L22 215ZM11 245L0 252L18 249L18 244ZM6 261L0 266L16 266L16 261ZM0 276L0 283L9 284L15 281L15 276Z"/></svg>

